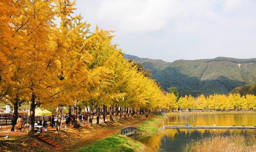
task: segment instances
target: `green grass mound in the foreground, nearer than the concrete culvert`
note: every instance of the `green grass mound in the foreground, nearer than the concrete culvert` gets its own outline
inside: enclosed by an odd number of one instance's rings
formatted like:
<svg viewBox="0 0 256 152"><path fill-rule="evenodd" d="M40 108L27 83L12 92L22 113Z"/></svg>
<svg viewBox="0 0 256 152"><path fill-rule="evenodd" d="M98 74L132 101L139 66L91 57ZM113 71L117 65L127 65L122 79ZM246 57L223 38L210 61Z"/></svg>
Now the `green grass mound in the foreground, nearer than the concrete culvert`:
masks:
<svg viewBox="0 0 256 152"><path fill-rule="evenodd" d="M109 138L96 141L78 152L140 152L145 147L142 143L133 139L115 134Z"/></svg>

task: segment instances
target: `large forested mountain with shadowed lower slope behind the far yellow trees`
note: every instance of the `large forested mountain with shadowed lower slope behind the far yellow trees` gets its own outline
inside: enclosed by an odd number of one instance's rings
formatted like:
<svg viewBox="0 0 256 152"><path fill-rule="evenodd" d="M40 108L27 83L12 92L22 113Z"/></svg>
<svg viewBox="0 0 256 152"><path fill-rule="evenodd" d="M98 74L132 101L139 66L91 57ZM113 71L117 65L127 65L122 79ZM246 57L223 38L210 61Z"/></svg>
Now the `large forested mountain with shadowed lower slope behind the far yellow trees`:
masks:
<svg viewBox="0 0 256 152"><path fill-rule="evenodd" d="M255 58L218 57L164 62L132 57L131 59L140 62L145 69L154 71L152 72L153 79L160 82L164 90L176 87L181 96L185 94L193 96L227 94L238 86L256 83ZM126 56L126 58L128 57Z"/></svg>

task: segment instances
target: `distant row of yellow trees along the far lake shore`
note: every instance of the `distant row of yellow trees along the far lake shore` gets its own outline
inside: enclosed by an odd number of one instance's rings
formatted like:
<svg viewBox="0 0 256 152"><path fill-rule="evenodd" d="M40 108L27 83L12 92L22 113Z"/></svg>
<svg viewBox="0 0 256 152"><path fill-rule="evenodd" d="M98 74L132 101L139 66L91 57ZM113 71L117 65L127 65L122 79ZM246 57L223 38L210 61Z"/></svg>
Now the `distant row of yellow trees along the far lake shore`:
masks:
<svg viewBox="0 0 256 152"><path fill-rule="evenodd" d="M200 95L192 97L185 95L180 97L173 108L197 109L197 110L255 110L256 96L247 94L241 96L240 94L214 94L205 97Z"/></svg>

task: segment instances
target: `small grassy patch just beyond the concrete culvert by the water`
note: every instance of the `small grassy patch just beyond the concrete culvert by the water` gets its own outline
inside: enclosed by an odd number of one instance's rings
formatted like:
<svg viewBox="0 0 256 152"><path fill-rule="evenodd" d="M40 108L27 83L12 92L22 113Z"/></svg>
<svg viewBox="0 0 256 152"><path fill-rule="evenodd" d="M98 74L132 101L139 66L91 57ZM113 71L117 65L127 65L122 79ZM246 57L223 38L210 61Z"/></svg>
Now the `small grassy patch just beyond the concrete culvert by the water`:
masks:
<svg viewBox="0 0 256 152"><path fill-rule="evenodd" d="M142 134L152 134L158 132L158 125L165 117L156 116L154 118L149 118L145 122L137 125L137 129L142 132Z"/></svg>

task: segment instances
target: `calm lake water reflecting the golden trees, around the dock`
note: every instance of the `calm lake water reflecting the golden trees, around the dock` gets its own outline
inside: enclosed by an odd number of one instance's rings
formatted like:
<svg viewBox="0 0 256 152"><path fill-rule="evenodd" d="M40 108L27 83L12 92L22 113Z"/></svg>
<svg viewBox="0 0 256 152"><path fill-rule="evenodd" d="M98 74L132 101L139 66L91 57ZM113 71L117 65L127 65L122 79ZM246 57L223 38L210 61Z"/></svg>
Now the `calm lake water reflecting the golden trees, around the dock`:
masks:
<svg viewBox="0 0 256 152"><path fill-rule="evenodd" d="M256 126L256 114L215 114L211 115L181 115L169 116L163 123L165 125L245 125ZM149 152L182 152L182 146L191 140L222 134L255 134L255 130L240 129L161 129L160 133L152 136L133 136L132 138L150 147Z"/></svg>

